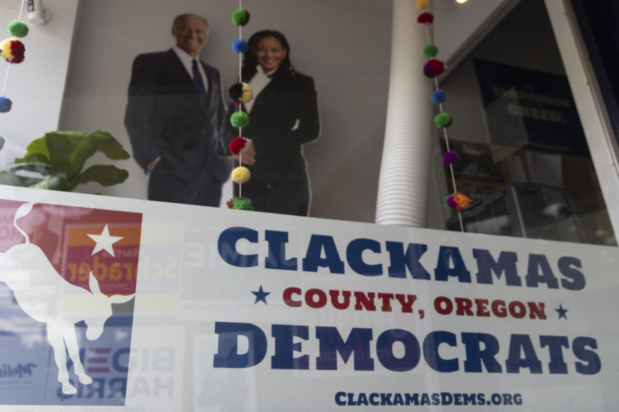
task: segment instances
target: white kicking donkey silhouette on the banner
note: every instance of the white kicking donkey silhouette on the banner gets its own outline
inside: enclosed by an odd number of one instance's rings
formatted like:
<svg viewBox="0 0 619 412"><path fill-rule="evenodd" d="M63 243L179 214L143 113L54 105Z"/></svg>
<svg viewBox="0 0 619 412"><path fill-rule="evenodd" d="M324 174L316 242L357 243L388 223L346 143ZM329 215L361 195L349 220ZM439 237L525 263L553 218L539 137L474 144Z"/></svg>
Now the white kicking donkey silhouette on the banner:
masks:
<svg viewBox="0 0 619 412"><path fill-rule="evenodd" d="M69 383L65 345L79 382L84 385L92 384L92 378L84 371L79 358L75 324L84 320L87 326L86 337L96 340L103 333L105 321L112 315L111 304L128 302L134 295L106 296L99 290L99 283L92 272L89 277L92 293L64 280L40 247L30 243L28 234L17 226L17 219L27 215L33 205L23 204L15 212L13 225L24 235L25 243L0 253L0 281L4 281L11 288L22 311L32 319L47 324L47 338L54 350L54 360L58 366L58 382L62 384L63 393L73 395L77 393L77 389ZM45 285L46 289L53 292L44 294L37 291L38 284ZM66 299L68 296L71 299ZM76 299L82 297L85 298ZM87 302L87 306L80 307L76 302Z"/></svg>

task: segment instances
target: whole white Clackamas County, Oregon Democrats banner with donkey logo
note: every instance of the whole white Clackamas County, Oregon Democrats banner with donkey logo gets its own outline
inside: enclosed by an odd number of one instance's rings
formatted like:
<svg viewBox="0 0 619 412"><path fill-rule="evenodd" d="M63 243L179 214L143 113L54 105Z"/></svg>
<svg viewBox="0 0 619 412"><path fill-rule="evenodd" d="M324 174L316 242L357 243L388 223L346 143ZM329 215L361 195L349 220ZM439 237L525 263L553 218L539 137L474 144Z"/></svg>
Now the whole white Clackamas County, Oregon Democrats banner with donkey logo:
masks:
<svg viewBox="0 0 619 412"><path fill-rule="evenodd" d="M619 402L617 247L2 188L0 411Z"/></svg>

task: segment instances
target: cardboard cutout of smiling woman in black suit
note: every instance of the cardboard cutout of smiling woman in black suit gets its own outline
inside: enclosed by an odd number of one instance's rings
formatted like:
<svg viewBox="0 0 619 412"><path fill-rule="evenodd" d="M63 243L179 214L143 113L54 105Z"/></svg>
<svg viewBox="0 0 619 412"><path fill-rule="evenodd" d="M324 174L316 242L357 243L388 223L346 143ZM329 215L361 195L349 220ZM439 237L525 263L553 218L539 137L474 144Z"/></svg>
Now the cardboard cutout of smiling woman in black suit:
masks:
<svg viewBox="0 0 619 412"><path fill-rule="evenodd" d="M241 75L254 93L253 100L241 106L249 114L243 137L251 139L248 153L241 157L251 179L241 194L259 212L307 216L311 194L302 145L316 140L320 132L314 81L295 71L286 38L272 30L251 36ZM230 105L226 118L237 110ZM224 143L237 135L238 129L225 121ZM235 196L238 189L235 184Z"/></svg>

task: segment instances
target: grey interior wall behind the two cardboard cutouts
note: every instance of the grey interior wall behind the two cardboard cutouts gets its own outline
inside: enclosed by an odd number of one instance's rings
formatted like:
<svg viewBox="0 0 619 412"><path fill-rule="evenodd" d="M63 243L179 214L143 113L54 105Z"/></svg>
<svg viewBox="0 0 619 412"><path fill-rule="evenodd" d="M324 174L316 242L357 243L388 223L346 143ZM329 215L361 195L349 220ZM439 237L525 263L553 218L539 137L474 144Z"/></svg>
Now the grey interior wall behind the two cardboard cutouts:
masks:
<svg viewBox="0 0 619 412"><path fill-rule="evenodd" d="M183 12L209 19L209 40L200 54L220 70L227 90L238 75L238 57L230 48L238 37L238 28L230 22L236 4L82 1L61 129L103 129L130 150L123 117L132 61L137 54L174 45L171 22ZM389 83L391 2L262 0L246 1L243 7L251 13L243 37L266 28L284 33L293 65L316 84L321 137L305 147L313 189L311 216L374 221ZM93 183L77 190L144 199L145 177L137 163L129 159L116 165L129 171L124 184ZM228 183L223 200L231 196Z"/></svg>

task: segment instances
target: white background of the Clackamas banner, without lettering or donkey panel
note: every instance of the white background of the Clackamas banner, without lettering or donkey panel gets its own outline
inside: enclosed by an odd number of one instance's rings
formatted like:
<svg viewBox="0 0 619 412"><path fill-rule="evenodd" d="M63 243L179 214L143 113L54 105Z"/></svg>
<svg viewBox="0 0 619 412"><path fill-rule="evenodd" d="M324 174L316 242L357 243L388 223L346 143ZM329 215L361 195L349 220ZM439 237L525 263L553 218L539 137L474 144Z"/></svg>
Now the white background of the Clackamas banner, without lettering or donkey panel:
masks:
<svg viewBox="0 0 619 412"><path fill-rule="evenodd" d="M415 406L339 406L336 393L483 393L485 401L493 393L520 394L521 405L490 405L486 410L506 411L608 411L619 404L616 382L619 378L617 345L617 247L590 246L565 242L461 234L448 231L412 229L396 226L378 226L345 221L298 218L266 213L219 210L215 208L117 199L97 195L36 191L3 186L2 199L41 202L79 207L103 208L139 212L142 217L139 273L134 306L129 361L126 406L128 411L331 411L404 410ZM256 267L235 267L225 262L217 250L217 241L223 230L233 226L258 231L258 243L238 241L236 247L243 254L259 255ZM265 268L269 253L264 238L265 230L288 233L286 258L296 257L298 270ZM113 233L112 233L113 234ZM305 257L312 234L333 236L339 257L345 262L345 273L329 273L327 268L318 272L303 272L301 260ZM381 253L366 251L367 264L381 264L383 275L376 277L355 273L348 265L346 250L353 239L369 238L378 241ZM420 263L430 273L431 280L388 277L389 253L385 242L426 244L428 250ZM470 272L471 283L457 278L436 281L434 269L440 246L458 247L464 264ZM493 275L493 285L477 283L477 260L472 249L487 249L494 259L501 251L516 252L517 273L522 286L507 286L504 275L500 280ZM527 287L525 275L529 254L542 254L559 280L558 289L540 284ZM561 287L561 272L557 267L560 257L571 256L581 261L581 272L586 286L571 291ZM267 304L254 303L262 286ZM289 287L303 293L311 288L324 290L362 291L374 293L414 294L417 301L413 313L401 313L394 300L392 312L381 311L376 299L376 311L356 311L354 298L348 309L334 309L327 305L313 309L303 301L301 307L284 303L282 294ZM328 296L328 295L327 295ZM434 299L454 298L501 299L545 304L546 320L457 316L438 314ZM293 296L302 300L302 296ZM560 305L568 309L567 319L558 319ZM420 319L419 310L424 317ZM475 311L475 306L473 310ZM527 312L528 313L528 312ZM267 353L256 366L242 369L215 368L217 353L215 322L251 323L261 328L267 339ZM300 352L309 355L308 370L271 369L275 353L275 339L271 336L274 324L306 325L308 340L295 338L301 343ZM370 353L374 358L373 371L355 371L354 355L347 363L337 356L337 370L317 371L319 341L316 326L337 327L344 340L351 328L371 328L373 340ZM415 335L420 345L430 332L444 330L456 335L457 345L443 344L439 354L443 359L457 358L459 370L437 372L426 363L423 353L417 366L407 372L394 372L384 367L376 356L376 339L385 330L404 329ZM8 331L10 332L10 331ZM501 373L464 372L467 359L461 333L489 333L496 337L500 350L496 361ZM532 374L529 369L507 373L510 335L529 335L535 354L542 363L542 373ZM540 347L540 335L565 336L569 348L563 348L567 374L550 374L548 346ZM578 359L573 353L573 340L591 337L597 349L587 348L599 356L601 369L586 375L576 371ZM247 340L239 340L238 352L247 349ZM483 349L483 345L482 345ZM401 357L404 348L394 345L394 355ZM72 375L72 369L69 369ZM379 398L374 398L379 399ZM340 400L348 401L347 395ZM394 395L391 396L391 401ZM427 405L420 410L474 411L478 405ZM0 411L60 411L63 406L0 406ZM82 411L118 410L118 406L80 406Z"/></svg>

